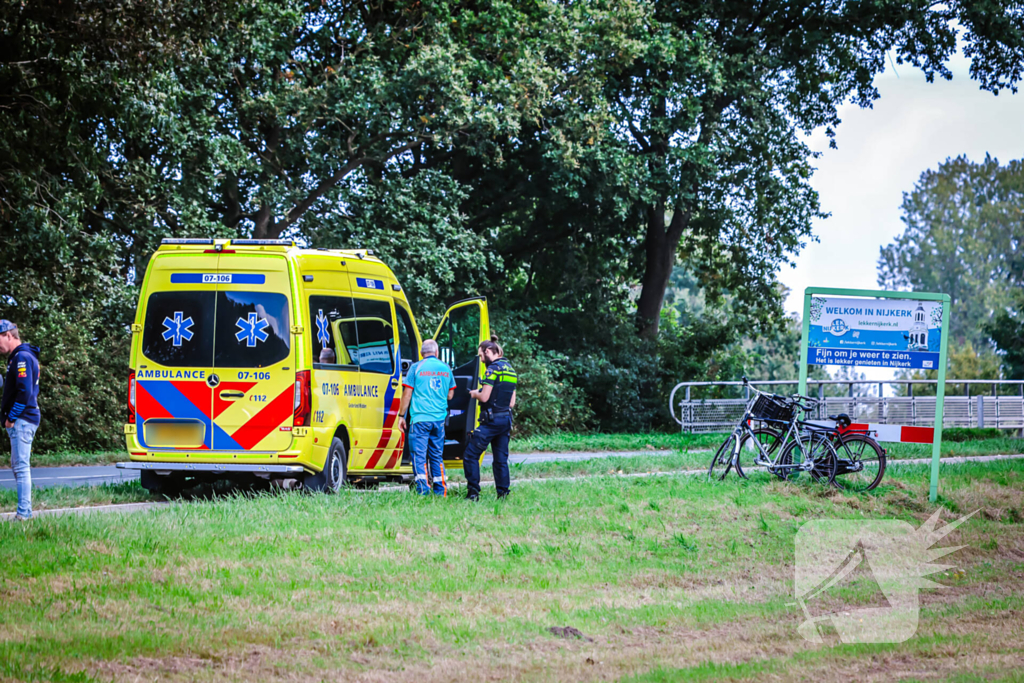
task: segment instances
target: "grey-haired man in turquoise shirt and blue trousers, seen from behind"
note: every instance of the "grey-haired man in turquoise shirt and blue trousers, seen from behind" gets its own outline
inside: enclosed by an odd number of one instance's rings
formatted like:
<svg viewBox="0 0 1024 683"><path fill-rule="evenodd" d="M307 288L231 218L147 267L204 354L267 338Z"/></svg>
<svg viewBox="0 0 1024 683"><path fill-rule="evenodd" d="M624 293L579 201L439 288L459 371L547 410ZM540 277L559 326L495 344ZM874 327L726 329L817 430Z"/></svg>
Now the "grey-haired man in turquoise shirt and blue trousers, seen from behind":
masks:
<svg viewBox="0 0 1024 683"><path fill-rule="evenodd" d="M409 450L413 454L413 472L416 490L421 496L430 495L427 483L427 464L434 481L433 493L447 495L444 481L444 421L447 402L455 395L455 377L452 369L437 359L437 342L428 339L421 349L423 360L414 362L406 373L402 384L401 408L398 409L398 429L406 431L407 409L410 410Z"/></svg>

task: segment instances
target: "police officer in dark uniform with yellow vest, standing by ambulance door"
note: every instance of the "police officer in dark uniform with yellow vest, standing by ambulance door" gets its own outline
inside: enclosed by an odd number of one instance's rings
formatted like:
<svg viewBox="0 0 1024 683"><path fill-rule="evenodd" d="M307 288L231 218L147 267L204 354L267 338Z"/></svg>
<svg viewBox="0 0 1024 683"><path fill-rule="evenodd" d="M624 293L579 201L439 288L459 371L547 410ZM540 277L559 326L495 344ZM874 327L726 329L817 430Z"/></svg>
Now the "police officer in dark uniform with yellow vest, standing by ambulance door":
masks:
<svg viewBox="0 0 1024 683"><path fill-rule="evenodd" d="M512 431L517 377L512 364L503 357L502 347L494 338L481 342L477 354L486 364L487 370L480 389L469 392L470 396L480 401L480 426L473 432L462 456L468 486L466 498L480 500L480 455L490 444L495 487L501 500L509 495L512 483L509 476L509 434Z"/></svg>

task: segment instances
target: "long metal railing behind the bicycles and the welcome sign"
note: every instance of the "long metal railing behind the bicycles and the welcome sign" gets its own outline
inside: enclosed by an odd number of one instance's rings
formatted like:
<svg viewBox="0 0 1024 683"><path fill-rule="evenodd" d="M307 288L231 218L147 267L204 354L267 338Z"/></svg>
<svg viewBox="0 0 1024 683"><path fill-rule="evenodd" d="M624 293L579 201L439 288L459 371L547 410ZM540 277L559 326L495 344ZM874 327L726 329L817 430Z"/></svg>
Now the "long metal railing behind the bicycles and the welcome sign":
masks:
<svg viewBox="0 0 1024 683"><path fill-rule="evenodd" d="M751 382L762 390L792 394L799 382L758 381ZM907 395L885 396L883 386L887 384L905 385ZM898 424L931 427L935 424L935 396L914 396L913 387L920 384L936 384L936 380L888 380L844 381L808 380L808 390L817 387L817 395L823 399L815 419L825 419L829 415L846 413L856 422L876 424ZM858 395L855 387L878 386L878 396ZM825 387L847 388L846 396L827 396ZM943 412L943 427L997 427L1019 429L1024 435L1024 380L947 380L948 387L964 387L964 395L946 394ZM734 398L694 398L694 389L714 388L722 393L727 387L737 387ZM788 391L781 387L792 387ZM975 394L971 395L972 387ZM980 387L991 387L985 394L978 393ZM680 392L682 393L680 394ZM669 396L669 412L684 432L722 431L734 426L743 417L749 401L749 391L743 391L742 382L680 382ZM677 399L677 395L679 398Z"/></svg>

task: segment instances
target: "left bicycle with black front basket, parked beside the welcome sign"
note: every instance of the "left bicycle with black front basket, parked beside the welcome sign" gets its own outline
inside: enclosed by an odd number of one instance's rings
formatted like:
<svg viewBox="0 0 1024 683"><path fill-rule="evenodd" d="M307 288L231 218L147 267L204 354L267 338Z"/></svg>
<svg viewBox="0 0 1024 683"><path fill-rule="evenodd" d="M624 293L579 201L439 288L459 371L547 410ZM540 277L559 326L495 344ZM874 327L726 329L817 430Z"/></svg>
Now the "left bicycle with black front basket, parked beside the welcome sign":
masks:
<svg viewBox="0 0 1024 683"><path fill-rule="evenodd" d="M750 386L745 377L743 386ZM712 458L708 478L724 479L733 467L740 477L749 478L742 471L739 456L744 447L752 447L756 455L751 465L763 467L779 479L793 481L807 472L815 481L831 484L839 456L825 431L806 429L807 423L797 419L798 408L803 408L799 401L750 388L757 395L746 404L742 419ZM752 428L751 422L755 420L786 425L784 435L780 439L774 430Z"/></svg>

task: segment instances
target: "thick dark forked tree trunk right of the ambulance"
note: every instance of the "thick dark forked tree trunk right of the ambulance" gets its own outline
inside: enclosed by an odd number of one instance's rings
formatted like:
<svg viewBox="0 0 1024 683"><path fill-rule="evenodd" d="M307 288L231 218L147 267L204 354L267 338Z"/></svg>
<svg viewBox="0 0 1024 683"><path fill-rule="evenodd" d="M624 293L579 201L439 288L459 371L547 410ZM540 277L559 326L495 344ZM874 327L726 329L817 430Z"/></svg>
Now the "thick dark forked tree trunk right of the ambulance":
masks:
<svg viewBox="0 0 1024 683"><path fill-rule="evenodd" d="M676 264L676 250L689 222L689 212L677 208L672 214L672 221L666 226L665 207L663 200L647 211L643 283L637 301L637 329L640 336L646 339L657 337L665 291L669 288L672 268Z"/></svg>

